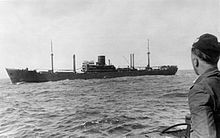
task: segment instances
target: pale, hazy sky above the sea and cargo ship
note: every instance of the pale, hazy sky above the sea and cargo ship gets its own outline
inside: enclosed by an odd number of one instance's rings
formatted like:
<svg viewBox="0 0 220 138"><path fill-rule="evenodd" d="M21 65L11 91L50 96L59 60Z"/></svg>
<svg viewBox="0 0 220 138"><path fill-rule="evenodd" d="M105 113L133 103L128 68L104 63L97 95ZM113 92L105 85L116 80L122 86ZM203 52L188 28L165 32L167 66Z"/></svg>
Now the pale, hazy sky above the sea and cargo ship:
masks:
<svg viewBox="0 0 220 138"><path fill-rule="evenodd" d="M220 38L219 0L0 0L0 78L5 68L72 69L105 55L116 67L177 65L192 69L190 48ZM107 62L107 61L106 61Z"/></svg>

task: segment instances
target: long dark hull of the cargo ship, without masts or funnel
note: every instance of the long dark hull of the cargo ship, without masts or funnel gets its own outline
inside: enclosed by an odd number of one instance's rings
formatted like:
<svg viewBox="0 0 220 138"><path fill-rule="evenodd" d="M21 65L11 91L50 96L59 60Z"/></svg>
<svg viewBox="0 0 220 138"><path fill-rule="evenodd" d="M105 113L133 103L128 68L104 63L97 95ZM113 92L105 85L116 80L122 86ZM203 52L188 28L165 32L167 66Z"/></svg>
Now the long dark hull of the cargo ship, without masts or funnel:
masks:
<svg viewBox="0 0 220 138"><path fill-rule="evenodd" d="M168 68L167 70L133 70L133 71L114 71L114 72L37 72L27 69L6 69L12 83L17 82L47 82L59 80L74 79L105 79L125 76L143 76L143 75L175 75L177 68Z"/></svg>

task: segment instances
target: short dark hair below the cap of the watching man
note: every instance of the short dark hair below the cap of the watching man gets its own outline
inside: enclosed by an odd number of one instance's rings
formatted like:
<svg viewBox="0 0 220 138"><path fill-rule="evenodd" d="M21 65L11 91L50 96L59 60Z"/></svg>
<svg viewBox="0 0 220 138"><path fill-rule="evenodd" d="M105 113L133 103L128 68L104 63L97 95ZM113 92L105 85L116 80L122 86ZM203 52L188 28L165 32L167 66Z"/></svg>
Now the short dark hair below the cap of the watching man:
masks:
<svg viewBox="0 0 220 138"><path fill-rule="evenodd" d="M197 48L192 48L192 53L199 57L201 60L205 61L208 64L216 65L219 61L219 55L218 56L209 56L205 53L203 53L201 50Z"/></svg>

